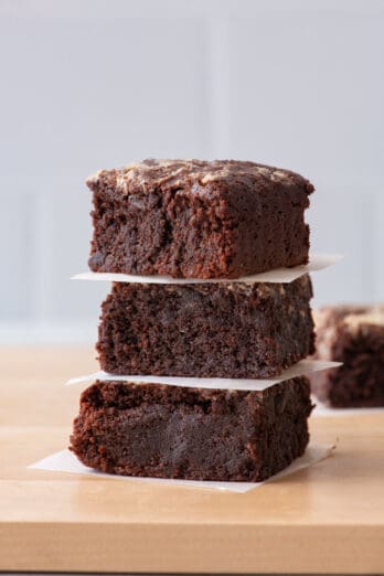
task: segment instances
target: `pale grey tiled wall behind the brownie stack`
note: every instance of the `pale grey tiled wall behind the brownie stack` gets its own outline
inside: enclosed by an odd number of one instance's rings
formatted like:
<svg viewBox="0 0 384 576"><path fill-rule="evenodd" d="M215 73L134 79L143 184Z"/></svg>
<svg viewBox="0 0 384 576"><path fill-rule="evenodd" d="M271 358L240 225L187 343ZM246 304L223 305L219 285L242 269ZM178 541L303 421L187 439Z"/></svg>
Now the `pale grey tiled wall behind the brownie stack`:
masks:
<svg viewBox="0 0 384 576"><path fill-rule="evenodd" d="M317 186L316 303L384 298L382 1L0 0L0 340L95 334L99 168L252 159Z"/></svg>

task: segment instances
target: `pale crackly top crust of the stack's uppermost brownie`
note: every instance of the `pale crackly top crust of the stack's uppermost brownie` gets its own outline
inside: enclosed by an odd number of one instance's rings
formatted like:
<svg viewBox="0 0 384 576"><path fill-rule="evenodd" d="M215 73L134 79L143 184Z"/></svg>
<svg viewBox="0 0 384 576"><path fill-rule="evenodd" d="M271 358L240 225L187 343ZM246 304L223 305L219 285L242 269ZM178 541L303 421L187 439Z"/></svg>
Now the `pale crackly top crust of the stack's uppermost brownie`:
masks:
<svg viewBox="0 0 384 576"><path fill-rule="evenodd" d="M119 169L99 170L86 183L93 191L104 185L122 194L183 185L192 193L209 191L212 185L256 188L258 192L281 186L285 190L302 189L307 194L314 190L307 179L290 170L239 160L147 159Z"/></svg>

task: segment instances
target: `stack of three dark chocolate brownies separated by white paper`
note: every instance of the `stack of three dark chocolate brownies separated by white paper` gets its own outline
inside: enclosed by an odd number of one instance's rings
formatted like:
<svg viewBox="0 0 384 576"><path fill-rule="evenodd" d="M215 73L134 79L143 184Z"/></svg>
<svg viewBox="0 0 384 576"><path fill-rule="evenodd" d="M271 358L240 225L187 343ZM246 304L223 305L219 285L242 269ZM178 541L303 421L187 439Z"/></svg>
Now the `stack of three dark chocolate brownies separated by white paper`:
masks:
<svg viewBox="0 0 384 576"><path fill-rule="evenodd" d="M307 377L263 392L212 390L203 378L278 376L313 353L310 278L252 278L308 263L313 186L288 170L198 160L146 160L87 184L92 270L162 284L113 285L98 358L105 372L128 376L83 392L72 450L88 467L138 477L259 481L287 467L309 440Z"/></svg>

